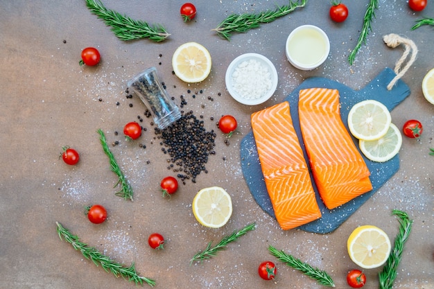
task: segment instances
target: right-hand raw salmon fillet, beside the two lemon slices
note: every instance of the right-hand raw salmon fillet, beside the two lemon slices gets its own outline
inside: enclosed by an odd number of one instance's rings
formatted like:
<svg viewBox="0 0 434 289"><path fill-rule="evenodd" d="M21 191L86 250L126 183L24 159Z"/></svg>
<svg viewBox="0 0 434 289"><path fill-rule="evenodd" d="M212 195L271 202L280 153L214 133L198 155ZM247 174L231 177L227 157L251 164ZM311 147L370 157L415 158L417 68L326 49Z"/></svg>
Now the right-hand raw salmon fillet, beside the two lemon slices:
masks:
<svg viewBox="0 0 434 289"><path fill-rule="evenodd" d="M298 110L313 178L326 207L371 191L370 171L340 118L339 91L302 89Z"/></svg>

